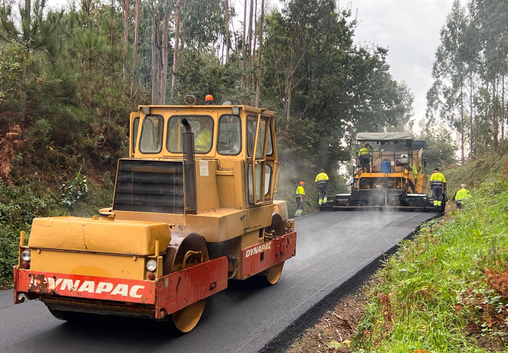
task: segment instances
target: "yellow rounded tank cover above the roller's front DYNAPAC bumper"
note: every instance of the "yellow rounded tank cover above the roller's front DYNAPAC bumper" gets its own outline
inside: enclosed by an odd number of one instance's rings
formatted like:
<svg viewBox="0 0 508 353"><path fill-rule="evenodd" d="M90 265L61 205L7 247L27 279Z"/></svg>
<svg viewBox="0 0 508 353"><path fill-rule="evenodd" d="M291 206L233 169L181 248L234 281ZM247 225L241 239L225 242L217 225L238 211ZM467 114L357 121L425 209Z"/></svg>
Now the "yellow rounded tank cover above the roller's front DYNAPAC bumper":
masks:
<svg viewBox="0 0 508 353"><path fill-rule="evenodd" d="M151 255L155 241L161 252L171 240L168 223L103 220L80 217L35 218L28 246L31 248Z"/></svg>

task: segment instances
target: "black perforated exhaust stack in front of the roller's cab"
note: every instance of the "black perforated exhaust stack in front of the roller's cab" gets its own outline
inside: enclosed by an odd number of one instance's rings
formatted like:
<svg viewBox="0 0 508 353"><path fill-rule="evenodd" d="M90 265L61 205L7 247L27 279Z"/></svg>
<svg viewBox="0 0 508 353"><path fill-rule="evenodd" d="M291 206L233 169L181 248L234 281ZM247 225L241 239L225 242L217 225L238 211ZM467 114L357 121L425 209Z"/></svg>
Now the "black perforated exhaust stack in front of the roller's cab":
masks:
<svg viewBox="0 0 508 353"><path fill-rule="evenodd" d="M196 194L196 161L194 158L194 133L187 119L182 120L185 131L182 134L183 144L183 202L185 214L195 215L198 211Z"/></svg>

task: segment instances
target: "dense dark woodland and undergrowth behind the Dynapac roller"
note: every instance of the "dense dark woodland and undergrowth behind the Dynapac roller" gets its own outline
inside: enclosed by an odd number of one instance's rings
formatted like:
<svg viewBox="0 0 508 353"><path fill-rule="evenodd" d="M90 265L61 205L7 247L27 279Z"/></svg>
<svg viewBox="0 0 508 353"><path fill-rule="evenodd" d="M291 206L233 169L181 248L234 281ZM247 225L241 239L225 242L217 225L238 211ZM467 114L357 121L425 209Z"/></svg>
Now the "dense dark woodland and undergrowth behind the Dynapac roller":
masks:
<svg viewBox="0 0 508 353"><path fill-rule="evenodd" d="M286 172L279 197L324 167L330 189L355 131L403 129L412 95L387 50L353 43L351 8L292 0L247 2L242 30L228 1L46 0L0 5L0 278L11 280L19 230L33 217L90 215L111 203L116 161L139 104L263 106L279 112ZM203 30L204 29L204 30ZM169 72L169 75L168 75Z"/></svg>

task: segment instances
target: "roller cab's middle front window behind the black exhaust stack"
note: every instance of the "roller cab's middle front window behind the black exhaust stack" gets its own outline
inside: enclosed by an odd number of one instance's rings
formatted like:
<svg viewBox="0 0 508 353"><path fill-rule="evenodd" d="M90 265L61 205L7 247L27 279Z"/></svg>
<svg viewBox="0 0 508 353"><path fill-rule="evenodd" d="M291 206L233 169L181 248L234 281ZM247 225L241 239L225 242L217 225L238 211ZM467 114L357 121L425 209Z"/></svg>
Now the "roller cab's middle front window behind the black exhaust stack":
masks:
<svg viewBox="0 0 508 353"><path fill-rule="evenodd" d="M212 149L213 119L211 116L172 116L168 122L168 139L166 148L172 153L182 153L182 134L185 128L182 120L187 119L194 133L194 150L196 153L208 153Z"/></svg>

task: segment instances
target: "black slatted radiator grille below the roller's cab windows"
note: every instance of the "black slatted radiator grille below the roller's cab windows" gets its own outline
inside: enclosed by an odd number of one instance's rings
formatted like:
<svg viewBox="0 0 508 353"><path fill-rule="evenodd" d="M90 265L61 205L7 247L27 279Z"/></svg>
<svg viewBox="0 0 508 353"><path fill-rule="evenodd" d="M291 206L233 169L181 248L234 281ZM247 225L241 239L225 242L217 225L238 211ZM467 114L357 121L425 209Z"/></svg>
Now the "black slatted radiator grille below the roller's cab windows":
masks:
<svg viewBox="0 0 508 353"><path fill-rule="evenodd" d="M182 162L120 159L113 210L184 214Z"/></svg>

